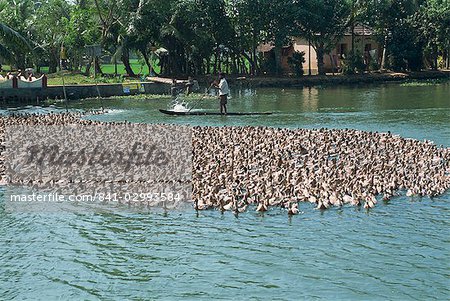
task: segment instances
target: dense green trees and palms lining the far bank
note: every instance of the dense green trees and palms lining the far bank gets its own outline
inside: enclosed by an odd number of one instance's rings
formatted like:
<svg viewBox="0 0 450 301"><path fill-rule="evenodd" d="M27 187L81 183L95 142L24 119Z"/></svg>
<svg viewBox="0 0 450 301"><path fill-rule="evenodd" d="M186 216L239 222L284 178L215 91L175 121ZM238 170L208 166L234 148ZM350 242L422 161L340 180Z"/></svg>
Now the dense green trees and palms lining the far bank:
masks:
<svg viewBox="0 0 450 301"><path fill-rule="evenodd" d="M0 0L0 62L55 72L67 56L73 70L101 72L109 61L134 75L138 55L149 70L157 58L163 74L258 74L267 63L258 45L272 43L270 71L281 73L282 47L298 36L324 73L324 56L357 23L384 46L381 68L448 64L450 0ZM100 45L101 59L86 56L87 45ZM353 47L349 58L360 60Z"/></svg>

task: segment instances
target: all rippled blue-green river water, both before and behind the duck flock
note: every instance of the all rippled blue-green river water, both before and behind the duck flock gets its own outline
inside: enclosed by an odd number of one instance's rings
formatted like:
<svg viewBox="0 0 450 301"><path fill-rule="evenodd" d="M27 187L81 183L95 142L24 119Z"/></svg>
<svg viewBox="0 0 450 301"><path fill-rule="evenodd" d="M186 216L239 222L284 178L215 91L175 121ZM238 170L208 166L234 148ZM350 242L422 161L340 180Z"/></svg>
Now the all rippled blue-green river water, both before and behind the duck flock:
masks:
<svg viewBox="0 0 450 301"><path fill-rule="evenodd" d="M167 100L105 100L110 113L93 118L390 130L450 145L448 83L246 93L229 111L276 114L170 117L157 112ZM0 299L449 299L449 201L398 197L370 212L301 204L292 218L102 204L27 213L0 201Z"/></svg>

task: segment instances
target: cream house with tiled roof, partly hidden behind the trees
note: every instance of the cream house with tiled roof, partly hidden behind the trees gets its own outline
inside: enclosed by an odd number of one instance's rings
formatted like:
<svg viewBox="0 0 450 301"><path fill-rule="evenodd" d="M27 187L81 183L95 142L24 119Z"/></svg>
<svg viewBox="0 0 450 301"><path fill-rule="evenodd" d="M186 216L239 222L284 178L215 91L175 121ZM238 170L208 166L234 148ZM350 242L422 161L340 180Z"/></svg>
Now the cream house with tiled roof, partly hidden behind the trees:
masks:
<svg viewBox="0 0 450 301"><path fill-rule="evenodd" d="M373 30L365 25L357 24L354 28L354 43L355 51L359 51L363 57L364 62L368 65L370 62L380 63L381 55L383 53L382 45L376 39ZM266 60L274 58L273 46L271 44L262 44L258 47L260 52ZM331 53L324 56L325 71L340 72L344 58L352 49L352 33L348 30ZM304 74L317 74L317 55L314 47L309 45L307 39L301 37L293 37L291 44L284 46L281 51L281 67L284 73L292 73L289 66L288 59L292 57L295 52L305 52L305 63L303 63Z"/></svg>

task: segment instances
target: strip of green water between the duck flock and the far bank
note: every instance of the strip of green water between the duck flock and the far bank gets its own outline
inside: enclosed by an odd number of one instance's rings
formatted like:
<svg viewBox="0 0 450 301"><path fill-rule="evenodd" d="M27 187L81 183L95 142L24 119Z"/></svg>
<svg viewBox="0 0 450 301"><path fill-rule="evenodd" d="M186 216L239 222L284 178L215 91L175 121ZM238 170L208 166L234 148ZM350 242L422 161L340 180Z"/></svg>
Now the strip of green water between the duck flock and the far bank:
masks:
<svg viewBox="0 0 450 301"><path fill-rule="evenodd" d="M107 100L112 108L107 115L95 116L103 121L179 123L192 125L264 125L291 128L357 128L368 131L391 131L416 139L436 140L450 145L450 83L425 87L388 84L370 87L258 89L232 91L230 112L274 112L267 116L190 116L161 114L170 100ZM80 101L73 108L98 109L99 100ZM219 110L216 99L190 100L193 110Z"/></svg>

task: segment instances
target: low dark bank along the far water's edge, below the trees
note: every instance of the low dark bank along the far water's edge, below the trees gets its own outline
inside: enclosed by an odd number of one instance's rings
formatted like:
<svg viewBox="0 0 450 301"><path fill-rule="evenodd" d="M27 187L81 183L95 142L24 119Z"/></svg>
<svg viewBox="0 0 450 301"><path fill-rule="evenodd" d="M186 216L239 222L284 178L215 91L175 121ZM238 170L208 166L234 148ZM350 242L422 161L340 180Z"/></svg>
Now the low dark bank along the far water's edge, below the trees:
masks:
<svg viewBox="0 0 450 301"><path fill-rule="evenodd" d="M202 88L209 86L215 79L213 75L196 78ZM303 88L338 87L362 84L381 85L385 83L407 83L408 81L450 81L450 71L421 71L409 73L371 73L363 75L304 75L302 77L257 76L243 77L230 75L227 80L234 89L242 88ZM170 95L170 78L160 77L154 81L129 83L98 83L50 85L46 88L0 89L0 101L3 103L37 103L47 99L80 100L86 98L127 97L136 95Z"/></svg>

